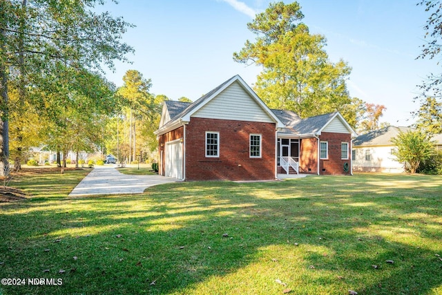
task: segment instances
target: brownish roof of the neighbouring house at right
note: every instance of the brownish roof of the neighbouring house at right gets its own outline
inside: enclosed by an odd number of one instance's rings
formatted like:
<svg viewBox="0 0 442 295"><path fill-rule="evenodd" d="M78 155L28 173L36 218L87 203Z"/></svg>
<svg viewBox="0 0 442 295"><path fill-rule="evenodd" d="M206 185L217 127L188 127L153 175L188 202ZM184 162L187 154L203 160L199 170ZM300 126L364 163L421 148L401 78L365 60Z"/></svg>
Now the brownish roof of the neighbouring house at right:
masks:
<svg viewBox="0 0 442 295"><path fill-rule="evenodd" d="M354 146L381 146L392 145L392 138L401 132L412 130L410 127L387 126L383 129L371 131L363 135L359 135L353 142Z"/></svg>

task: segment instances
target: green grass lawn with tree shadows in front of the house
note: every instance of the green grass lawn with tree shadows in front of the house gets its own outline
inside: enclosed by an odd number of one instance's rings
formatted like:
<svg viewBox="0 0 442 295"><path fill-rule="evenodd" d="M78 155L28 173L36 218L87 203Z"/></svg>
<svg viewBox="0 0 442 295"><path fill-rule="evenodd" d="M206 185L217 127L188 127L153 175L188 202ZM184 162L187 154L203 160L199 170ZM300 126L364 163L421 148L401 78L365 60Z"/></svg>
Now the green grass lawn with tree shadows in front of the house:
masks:
<svg viewBox="0 0 442 295"><path fill-rule="evenodd" d="M442 178L184 182L68 198L84 171L0 203L0 294L442 294ZM389 262L387 262L389 261ZM59 282L55 280L55 282Z"/></svg>

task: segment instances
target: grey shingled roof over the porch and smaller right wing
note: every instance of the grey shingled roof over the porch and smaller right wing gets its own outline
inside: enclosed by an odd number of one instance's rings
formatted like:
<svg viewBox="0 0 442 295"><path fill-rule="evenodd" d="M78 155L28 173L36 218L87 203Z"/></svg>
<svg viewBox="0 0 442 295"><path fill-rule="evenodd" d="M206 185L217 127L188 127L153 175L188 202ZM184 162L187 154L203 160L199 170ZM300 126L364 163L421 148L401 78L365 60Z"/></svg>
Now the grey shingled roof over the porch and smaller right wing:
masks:
<svg viewBox="0 0 442 295"><path fill-rule="evenodd" d="M296 113L293 111L284 111L284 110L271 110L275 115L277 115L280 120L285 124L285 128L281 129L280 134L284 135L320 135L320 133L327 127L327 125L332 122L336 117L340 120L341 123L345 126L345 128L352 133L352 136L356 136L356 132L352 129L351 126L345 121L342 115L339 112L327 113L324 115L317 115L314 117L307 117L305 119L301 119Z"/></svg>

